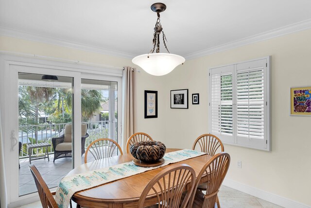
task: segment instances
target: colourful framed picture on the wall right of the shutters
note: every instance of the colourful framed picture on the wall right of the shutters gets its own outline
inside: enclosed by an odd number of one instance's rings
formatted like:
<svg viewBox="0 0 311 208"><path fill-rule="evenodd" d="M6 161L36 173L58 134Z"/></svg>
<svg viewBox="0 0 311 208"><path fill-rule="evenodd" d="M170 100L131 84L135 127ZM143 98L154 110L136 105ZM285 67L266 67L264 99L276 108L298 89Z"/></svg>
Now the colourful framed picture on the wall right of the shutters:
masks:
<svg viewBox="0 0 311 208"><path fill-rule="evenodd" d="M291 115L311 115L311 87L291 88Z"/></svg>

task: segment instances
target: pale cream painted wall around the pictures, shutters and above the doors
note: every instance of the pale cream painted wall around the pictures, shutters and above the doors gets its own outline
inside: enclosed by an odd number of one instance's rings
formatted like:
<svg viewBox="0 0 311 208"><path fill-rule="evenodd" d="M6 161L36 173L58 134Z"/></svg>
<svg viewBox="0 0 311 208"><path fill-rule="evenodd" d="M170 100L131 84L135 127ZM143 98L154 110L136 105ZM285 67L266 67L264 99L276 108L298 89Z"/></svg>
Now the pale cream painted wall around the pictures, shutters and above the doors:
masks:
<svg viewBox="0 0 311 208"><path fill-rule="evenodd" d="M130 59L17 38L0 37L0 50L134 66ZM166 76L150 76L140 69L136 74L136 131L147 132L167 147L191 148L197 136L208 132L208 69L269 55L272 151L225 145L231 156L226 178L311 206L311 117L289 115L290 87L311 86L311 30L187 60ZM189 89L189 109L170 108L170 90L178 89ZM158 91L158 118L144 119L144 90ZM191 104L193 93L200 94L199 105ZM238 160L242 160L242 169L237 168Z"/></svg>

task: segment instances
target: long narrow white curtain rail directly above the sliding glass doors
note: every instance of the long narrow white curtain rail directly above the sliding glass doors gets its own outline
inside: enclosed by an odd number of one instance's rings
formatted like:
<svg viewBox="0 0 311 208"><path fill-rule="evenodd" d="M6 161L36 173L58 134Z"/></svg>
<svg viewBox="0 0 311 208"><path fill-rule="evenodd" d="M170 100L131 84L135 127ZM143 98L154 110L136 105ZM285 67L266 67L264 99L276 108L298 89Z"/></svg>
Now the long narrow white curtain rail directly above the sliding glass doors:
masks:
<svg viewBox="0 0 311 208"><path fill-rule="evenodd" d="M47 56L41 56L41 55L35 55L35 54L27 54L27 53L19 53L19 52L12 52L12 51L2 51L0 50L1 54L7 54L7 55L15 55L15 56L22 56L22 57L36 57L36 58L42 58L47 60L56 60L61 62L69 62L69 63L75 63L75 64L81 64L86 66L97 66L102 68L108 68L108 69L124 69L124 67L117 67L117 66L109 66L105 64L97 64L97 63L91 63L91 62L84 62L79 60L71 60L71 59L65 59L65 58L56 58L56 57L47 57Z"/></svg>

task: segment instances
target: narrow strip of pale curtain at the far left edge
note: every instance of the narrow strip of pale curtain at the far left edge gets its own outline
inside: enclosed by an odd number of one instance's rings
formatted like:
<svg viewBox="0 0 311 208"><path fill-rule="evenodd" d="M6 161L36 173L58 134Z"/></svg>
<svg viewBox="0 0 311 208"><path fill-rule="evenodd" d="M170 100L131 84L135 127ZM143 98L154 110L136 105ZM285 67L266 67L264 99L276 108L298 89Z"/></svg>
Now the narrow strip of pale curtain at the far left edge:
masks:
<svg viewBox="0 0 311 208"><path fill-rule="evenodd" d="M1 127L1 112L0 112L0 208L7 207L7 193L5 183L5 169L4 169L4 153L3 153L3 137Z"/></svg>

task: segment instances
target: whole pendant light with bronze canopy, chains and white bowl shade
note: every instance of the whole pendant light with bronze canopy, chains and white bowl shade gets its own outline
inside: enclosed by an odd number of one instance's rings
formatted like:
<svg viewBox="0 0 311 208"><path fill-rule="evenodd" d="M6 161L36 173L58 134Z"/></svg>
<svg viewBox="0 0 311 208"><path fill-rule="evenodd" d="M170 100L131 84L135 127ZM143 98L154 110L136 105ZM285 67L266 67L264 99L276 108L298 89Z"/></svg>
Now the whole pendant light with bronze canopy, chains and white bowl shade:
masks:
<svg viewBox="0 0 311 208"><path fill-rule="evenodd" d="M162 26L160 22L160 12L163 12L166 9L164 3L154 3L151 5L151 10L156 12L157 19L155 23L155 33L153 38L153 49L148 54L140 55L133 58L132 62L140 66L147 73L154 76L162 76L169 74L173 69L185 62L185 58L171 54L167 49L165 40L166 37L162 31ZM160 53L160 34L163 36L163 43L166 50L169 53ZM156 53L154 53L156 47Z"/></svg>

